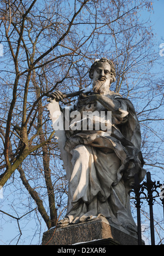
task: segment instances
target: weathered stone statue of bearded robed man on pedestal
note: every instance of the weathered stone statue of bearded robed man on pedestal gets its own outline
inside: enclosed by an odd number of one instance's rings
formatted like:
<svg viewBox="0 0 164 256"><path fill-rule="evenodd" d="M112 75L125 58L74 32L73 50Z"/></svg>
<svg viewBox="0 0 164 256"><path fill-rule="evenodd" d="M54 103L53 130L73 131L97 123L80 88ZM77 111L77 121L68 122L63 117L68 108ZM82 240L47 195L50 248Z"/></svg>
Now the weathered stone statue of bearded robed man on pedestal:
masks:
<svg viewBox="0 0 164 256"><path fill-rule="evenodd" d="M130 100L110 91L111 83L115 82L112 61L96 60L89 75L93 79L92 90L82 90L71 111L78 111L81 117L86 111L111 112L112 130L94 130L93 125L92 130L82 127L58 131L69 181L67 214L58 225L77 224L103 216L118 228L123 226L127 231L137 232L128 195L134 174L138 173L140 182L145 176L137 115ZM53 123L55 111L61 110L58 101L63 98L60 91L51 95L53 100L48 108Z"/></svg>

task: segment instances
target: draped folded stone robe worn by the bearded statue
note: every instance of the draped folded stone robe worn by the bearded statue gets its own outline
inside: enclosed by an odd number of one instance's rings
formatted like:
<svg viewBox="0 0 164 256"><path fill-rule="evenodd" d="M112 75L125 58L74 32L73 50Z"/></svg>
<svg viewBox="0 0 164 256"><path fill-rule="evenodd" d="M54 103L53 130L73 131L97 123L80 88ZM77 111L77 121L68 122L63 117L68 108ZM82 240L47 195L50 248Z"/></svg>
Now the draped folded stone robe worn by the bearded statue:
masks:
<svg viewBox="0 0 164 256"><path fill-rule="evenodd" d="M76 224L104 216L110 223L137 232L128 191L134 174L138 173L140 182L145 176L140 126L129 100L112 91L106 97L120 104L118 111L112 111L112 132L66 132L64 150L71 156L71 164L67 171L68 209L63 223L66 219L69 224ZM99 102L85 104L80 97L74 110L107 112Z"/></svg>

